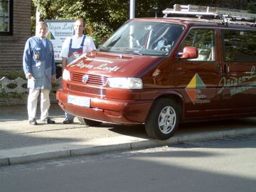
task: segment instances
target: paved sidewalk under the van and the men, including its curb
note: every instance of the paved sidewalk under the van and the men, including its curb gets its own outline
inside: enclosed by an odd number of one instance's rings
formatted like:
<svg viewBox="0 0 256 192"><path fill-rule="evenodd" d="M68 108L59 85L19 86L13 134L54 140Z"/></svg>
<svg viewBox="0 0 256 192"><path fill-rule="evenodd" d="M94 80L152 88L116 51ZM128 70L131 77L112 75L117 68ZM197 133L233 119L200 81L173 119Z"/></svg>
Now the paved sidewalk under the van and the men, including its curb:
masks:
<svg viewBox="0 0 256 192"><path fill-rule="evenodd" d="M58 105L50 107L50 117L56 124L38 121L32 126L26 106L0 106L0 166L256 134L256 118L181 124L174 137L159 141L147 137L143 126L87 127L78 119L75 124L63 124L64 113Z"/></svg>

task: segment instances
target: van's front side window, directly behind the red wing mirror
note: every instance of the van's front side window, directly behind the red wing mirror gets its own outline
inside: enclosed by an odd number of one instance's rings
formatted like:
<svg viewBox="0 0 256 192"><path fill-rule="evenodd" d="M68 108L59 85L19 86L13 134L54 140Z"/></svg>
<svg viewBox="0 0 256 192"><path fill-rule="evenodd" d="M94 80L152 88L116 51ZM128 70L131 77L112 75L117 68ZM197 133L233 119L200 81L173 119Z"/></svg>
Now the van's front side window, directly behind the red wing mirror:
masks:
<svg viewBox="0 0 256 192"><path fill-rule="evenodd" d="M189 31L185 41L183 41L179 52L186 46L198 48L198 58L188 59L196 61L215 60L215 38L213 29L193 28Z"/></svg>

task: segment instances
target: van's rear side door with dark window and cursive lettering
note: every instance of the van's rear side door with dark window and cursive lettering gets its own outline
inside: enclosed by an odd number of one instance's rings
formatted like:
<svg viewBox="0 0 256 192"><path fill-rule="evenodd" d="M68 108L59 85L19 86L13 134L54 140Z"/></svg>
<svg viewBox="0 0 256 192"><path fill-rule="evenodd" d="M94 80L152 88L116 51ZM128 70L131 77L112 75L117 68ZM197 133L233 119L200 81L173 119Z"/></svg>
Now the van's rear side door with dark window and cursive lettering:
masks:
<svg viewBox="0 0 256 192"><path fill-rule="evenodd" d="M224 75L221 114L252 114L256 110L256 32L221 30Z"/></svg>

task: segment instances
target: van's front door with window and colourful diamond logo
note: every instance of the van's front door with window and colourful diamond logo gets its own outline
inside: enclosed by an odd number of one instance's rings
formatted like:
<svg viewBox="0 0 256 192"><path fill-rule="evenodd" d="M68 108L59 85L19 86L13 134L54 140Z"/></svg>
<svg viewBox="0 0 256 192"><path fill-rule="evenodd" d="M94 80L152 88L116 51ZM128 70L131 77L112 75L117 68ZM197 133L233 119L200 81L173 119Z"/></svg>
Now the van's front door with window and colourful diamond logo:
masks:
<svg viewBox="0 0 256 192"><path fill-rule="evenodd" d="M220 63L216 57L215 28L191 28L178 49L186 46L198 48L198 58L178 59L175 64L176 91L184 100L184 117L209 117L218 115L220 95L217 95L220 82Z"/></svg>

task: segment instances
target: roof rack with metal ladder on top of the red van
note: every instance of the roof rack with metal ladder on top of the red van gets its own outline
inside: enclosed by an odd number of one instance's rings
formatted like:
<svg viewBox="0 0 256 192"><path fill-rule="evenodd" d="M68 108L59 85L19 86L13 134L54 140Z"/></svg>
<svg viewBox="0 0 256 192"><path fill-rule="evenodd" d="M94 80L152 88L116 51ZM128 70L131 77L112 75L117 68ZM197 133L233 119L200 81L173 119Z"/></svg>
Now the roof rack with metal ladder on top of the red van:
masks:
<svg viewBox="0 0 256 192"><path fill-rule="evenodd" d="M256 14L250 14L245 10L225 9L214 6L174 4L174 9L165 9L163 14L164 18L167 18L169 14L191 15L197 16L198 18L211 16L213 18L223 19L223 23L225 24L228 24L228 21L249 21L256 23Z"/></svg>

